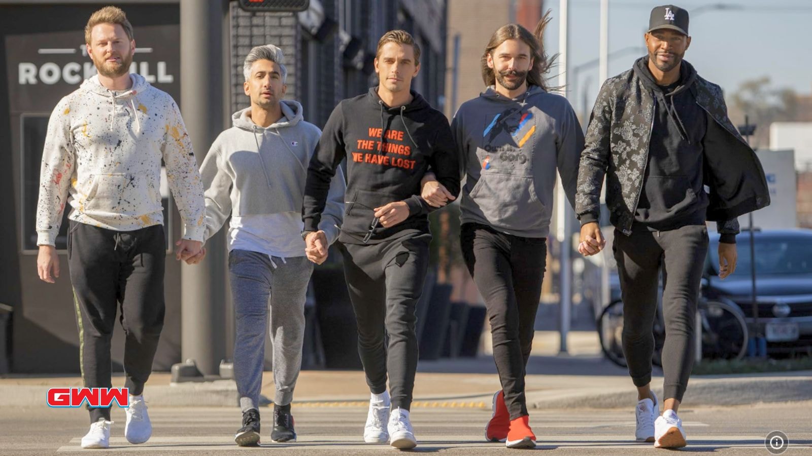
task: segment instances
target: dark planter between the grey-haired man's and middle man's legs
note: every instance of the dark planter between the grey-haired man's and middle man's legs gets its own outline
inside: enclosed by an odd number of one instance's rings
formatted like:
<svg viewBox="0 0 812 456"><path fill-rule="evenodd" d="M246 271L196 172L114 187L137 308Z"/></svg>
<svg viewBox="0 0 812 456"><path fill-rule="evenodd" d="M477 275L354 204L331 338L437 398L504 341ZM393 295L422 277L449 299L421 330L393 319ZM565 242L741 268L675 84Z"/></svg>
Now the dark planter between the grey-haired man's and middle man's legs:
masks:
<svg viewBox="0 0 812 456"><path fill-rule="evenodd" d="M324 349L324 367L361 369L358 357L358 329L340 265L313 271L318 334Z"/></svg>

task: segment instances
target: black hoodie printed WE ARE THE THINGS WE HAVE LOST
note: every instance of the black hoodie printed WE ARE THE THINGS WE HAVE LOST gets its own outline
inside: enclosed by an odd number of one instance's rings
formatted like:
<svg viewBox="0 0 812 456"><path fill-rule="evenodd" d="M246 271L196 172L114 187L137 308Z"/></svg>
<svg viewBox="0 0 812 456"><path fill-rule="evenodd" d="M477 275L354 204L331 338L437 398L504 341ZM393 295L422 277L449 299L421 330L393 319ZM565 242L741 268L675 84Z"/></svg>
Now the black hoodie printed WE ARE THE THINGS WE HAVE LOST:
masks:
<svg viewBox="0 0 812 456"><path fill-rule="evenodd" d="M347 158L347 191L339 241L364 243L374 222L374 209L405 201L409 216L384 228L378 225L367 243L404 234L429 232L434 208L420 197L420 181L431 168L439 183L456 196L460 169L448 119L412 91L408 105L391 108L378 97L378 87L335 107L310 160L304 187L304 230L317 230L330 179Z"/></svg>

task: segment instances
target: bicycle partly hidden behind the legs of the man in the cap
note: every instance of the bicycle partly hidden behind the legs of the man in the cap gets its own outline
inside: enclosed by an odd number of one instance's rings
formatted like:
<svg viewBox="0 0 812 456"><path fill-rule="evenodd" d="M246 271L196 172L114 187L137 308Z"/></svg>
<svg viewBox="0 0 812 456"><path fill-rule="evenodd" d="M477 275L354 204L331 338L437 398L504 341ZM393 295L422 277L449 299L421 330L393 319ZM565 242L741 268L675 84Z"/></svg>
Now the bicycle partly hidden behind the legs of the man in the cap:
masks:
<svg viewBox="0 0 812 456"><path fill-rule="evenodd" d="M704 285L704 284L703 284ZM704 289L704 286L703 286ZM744 312L726 299L706 299L700 294L697 304L697 330L702 338L702 359L741 359L747 352L749 333ZM623 355L623 302L609 303L596 320L601 351L612 363L627 367ZM654 316L654 355L651 362L662 367L665 324L663 305L658 301Z"/></svg>

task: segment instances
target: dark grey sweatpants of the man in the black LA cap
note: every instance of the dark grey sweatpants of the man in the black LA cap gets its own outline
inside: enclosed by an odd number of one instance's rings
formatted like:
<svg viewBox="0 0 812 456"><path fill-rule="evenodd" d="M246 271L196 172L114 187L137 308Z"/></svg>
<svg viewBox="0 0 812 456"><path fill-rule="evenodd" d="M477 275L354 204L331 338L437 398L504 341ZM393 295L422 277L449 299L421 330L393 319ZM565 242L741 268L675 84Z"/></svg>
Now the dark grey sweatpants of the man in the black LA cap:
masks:
<svg viewBox="0 0 812 456"><path fill-rule="evenodd" d="M694 359L694 322L699 285L708 250L704 225L650 231L635 226L632 234L615 230L612 250L620 274L623 299L623 353L637 387L651 381L654 355L652 327L657 309L657 284L663 268L663 399L682 401Z"/></svg>

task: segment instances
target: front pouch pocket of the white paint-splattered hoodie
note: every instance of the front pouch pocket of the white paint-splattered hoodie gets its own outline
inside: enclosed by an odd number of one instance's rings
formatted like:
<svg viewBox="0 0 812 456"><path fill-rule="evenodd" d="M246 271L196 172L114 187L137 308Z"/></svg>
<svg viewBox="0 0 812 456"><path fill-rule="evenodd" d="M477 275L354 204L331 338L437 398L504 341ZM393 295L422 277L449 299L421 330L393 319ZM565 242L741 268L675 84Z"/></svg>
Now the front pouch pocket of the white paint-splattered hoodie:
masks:
<svg viewBox="0 0 812 456"><path fill-rule="evenodd" d="M154 177L140 173L93 174L82 210L99 217L140 217L162 210Z"/></svg>

